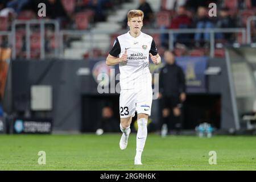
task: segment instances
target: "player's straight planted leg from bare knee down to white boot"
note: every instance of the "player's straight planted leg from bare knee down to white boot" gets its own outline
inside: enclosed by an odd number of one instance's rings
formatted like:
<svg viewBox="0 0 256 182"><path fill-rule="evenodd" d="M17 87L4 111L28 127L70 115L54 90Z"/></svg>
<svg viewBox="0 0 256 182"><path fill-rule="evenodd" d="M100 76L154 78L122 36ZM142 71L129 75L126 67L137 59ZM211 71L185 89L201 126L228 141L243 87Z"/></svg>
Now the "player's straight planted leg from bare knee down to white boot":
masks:
<svg viewBox="0 0 256 182"><path fill-rule="evenodd" d="M134 159L135 165L140 165L141 155L147 139L147 119L148 115L140 113L138 114L138 133L137 133L137 147L136 156Z"/></svg>

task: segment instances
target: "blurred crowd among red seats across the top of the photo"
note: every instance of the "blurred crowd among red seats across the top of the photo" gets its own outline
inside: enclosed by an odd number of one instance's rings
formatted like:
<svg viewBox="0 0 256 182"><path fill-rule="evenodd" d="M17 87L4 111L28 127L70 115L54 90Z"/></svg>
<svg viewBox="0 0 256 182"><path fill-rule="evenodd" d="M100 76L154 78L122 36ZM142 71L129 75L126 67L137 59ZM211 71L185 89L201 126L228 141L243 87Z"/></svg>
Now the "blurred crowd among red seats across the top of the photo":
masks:
<svg viewBox="0 0 256 182"><path fill-rule="evenodd" d="M11 30L11 22L14 19L55 19L60 22L61 29L65 30L89 30L97 22L105 22L108 15L119 10L123 3L134 2L125 0L2 0L0 1L0 31ZM236 28L246 27L249 16L255 15L256 0L159 0L159 9L152 9L152 1L138 0L138 7L144 12L144 28L155 30L178 30L182 28ZM209 3L216 3L217 16L210 17ZM39 17L39 3L46 4L46 17ZM127 17L118 22L122 29L127 29ZM252 41L256 41L255 23L251 28ZM47 31L48 34L48 31ZM24 32L16 34L16 49L20 57L24 57ZM48 36L49 35L49 36ZM55 48L53 34L49 31L46 36L46 51ZM169 35L152 35L159 52L163 53L169 45ZM31 35L31 57L38 57L40 47L40 34L33 32ZM114 38L116 35L110 35ZM217 56L224 56L223 44L241 43L242 34L216 33L214 35ZM184 55L188 49L191 56L209 55L209 32L196 32L195 34L179 34L173 36L176 55ZM1 47L5 46L7 38L0 36ZM67 42L65 42L67 43ZM68 44L68 43L67 43ZM200 48L200 49L199 49ZM204 48L204 49L202 49ZM161 50L163 50L161 52ZM208 52L207 52L208 51ZM23 53L22 53L23 52ZM100 56L105 53L99 53Z"/></svg>

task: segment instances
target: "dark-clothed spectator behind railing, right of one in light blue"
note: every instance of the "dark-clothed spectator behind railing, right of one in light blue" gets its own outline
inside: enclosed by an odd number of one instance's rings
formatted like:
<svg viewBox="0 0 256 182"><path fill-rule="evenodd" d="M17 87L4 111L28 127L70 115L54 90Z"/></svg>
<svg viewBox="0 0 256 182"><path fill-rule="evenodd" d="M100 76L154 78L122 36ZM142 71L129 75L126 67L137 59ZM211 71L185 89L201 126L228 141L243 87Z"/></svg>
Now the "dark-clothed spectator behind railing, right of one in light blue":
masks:
<svg viewBox="0 0 256 182"><path fill-rule="evenodd" d="M229 10L222 8L220 10L220 15L218 16L218 21L216 23L217 28L234 28L236 27L236 22L229 15ZM217 33L216 39L226 39L230 40L232 38L232 33Z"/></svg>

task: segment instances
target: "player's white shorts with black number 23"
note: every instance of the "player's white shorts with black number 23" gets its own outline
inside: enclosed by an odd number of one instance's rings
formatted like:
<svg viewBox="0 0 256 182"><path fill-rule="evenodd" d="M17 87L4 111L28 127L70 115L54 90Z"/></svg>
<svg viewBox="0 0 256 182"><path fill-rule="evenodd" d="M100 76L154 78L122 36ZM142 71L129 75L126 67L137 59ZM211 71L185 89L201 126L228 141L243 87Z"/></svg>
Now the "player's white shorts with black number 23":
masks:
<svg viewBox="0 0 256 182"><path fill-rule="evenodd" d="M122 89L119 98L120 118L134 117L143 113L150 116L152 105L152 77L150 73L144 74L134 83L133 89Z"/></svg>

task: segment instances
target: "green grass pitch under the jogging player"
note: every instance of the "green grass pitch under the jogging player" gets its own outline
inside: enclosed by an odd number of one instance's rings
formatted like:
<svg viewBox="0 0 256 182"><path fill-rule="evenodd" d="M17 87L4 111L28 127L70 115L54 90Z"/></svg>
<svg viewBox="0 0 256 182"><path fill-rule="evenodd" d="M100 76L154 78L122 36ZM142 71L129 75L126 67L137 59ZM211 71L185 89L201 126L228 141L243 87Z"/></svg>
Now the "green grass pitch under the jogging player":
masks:
<svg viewBox="0 0 256 182"><path fill-rule="evenodd" d="M0 170L256 170L256 138L236 136L168 136L148 134L142 166L134 166L136 135L126 150L121 134L0 135ZM38 164L38 152L46 164ZM217 164L209 164L216 151Z"/></svg>

